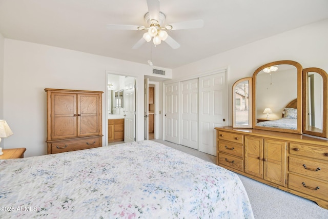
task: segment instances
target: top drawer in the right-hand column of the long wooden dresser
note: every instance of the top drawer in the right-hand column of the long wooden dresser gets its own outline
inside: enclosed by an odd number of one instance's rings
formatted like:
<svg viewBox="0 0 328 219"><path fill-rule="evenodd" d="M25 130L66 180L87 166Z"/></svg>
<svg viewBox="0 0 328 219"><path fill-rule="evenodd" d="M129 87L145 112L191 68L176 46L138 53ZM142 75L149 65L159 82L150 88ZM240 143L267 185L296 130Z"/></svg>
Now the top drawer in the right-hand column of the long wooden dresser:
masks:
<svg viewBox="0 0 328 219"><path fill-rule="evenodd" d="M289 153L328 161L327 147L290 143Z"/></svg>

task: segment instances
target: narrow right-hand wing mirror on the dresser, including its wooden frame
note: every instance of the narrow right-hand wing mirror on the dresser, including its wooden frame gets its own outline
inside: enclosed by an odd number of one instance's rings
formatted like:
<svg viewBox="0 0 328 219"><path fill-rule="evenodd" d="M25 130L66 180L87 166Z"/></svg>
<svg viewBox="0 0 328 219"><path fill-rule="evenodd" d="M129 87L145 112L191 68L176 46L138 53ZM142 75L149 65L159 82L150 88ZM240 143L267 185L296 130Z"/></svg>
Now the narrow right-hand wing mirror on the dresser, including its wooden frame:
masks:
<svg viewBox="0 0 328 219"><path fill-rule="evenodd" d="M320 68L303 69L303 133L327 136L327 73Z"/></svg>

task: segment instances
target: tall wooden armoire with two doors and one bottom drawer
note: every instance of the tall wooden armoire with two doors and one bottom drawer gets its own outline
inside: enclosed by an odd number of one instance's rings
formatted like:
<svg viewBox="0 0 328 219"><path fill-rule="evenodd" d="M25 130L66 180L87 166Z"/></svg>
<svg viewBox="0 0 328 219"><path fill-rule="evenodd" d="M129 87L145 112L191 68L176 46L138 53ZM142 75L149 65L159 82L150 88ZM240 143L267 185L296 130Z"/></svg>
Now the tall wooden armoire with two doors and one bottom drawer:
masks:
<svg viewBox="0 0 328 219"><path fill-rule="evenodd" d="M101 147L102 91L49 89L48 154Z"/></svg>

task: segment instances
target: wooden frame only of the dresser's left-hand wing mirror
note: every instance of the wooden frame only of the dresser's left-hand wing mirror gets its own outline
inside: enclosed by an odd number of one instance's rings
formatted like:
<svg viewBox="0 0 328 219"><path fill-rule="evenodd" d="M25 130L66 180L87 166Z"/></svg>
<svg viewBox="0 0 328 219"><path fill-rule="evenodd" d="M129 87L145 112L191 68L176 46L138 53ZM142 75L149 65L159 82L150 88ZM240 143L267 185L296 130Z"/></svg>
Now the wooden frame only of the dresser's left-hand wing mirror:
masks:
<svg viewBox="0 0 328 219"><path fill-rule="evenodd" d="M235 92L235 88L237 86L237 84L241 83L241 82L244 82L244 81L249 81L249 125L248 126L238 126L236 125L236 111L234 110L235 109L235 100L236 100L236 92ZM239 79L238 81L236 81L233 86L232 86L232 109L233 109L233 113L232 113L232 127L233 128L252 128L253 127L253 119L252 119L252 96L253 96L253 91L252 91L252 87L253 87L253 84L252 84L252 81L253 81L253 77L244 77L244 78L241 78Z"/></svg>

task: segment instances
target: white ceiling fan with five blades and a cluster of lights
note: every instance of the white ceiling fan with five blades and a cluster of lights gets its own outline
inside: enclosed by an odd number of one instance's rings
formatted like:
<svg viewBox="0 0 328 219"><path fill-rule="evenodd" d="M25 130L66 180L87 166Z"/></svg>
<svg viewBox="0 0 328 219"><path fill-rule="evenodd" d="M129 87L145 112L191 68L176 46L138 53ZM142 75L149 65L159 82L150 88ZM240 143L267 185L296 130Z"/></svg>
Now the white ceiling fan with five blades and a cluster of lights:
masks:
<svg viewBox="0 0 328 219"><path fill-rule="evenodd" d="M194 20L179 22L174 24L165 24L166 16L159 11L159 0L147 0L148 12L145 14L146 26L137 25L114 25L109 24L107 28L110 30L139 30L147 31L144 33L142 38L132 47L137 49L142 46L145 42L150 42L153 38L154 45L158 45L161 41L166 42L173 49L180 47L178 44L166 31L172 30L182 30L182 29L192 29L201 28L204 25L203 20ZM165 25L165 26L163 26Z"/></svg>

